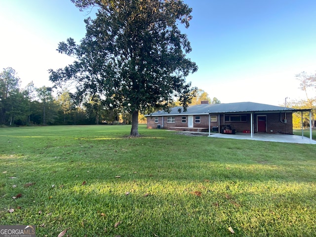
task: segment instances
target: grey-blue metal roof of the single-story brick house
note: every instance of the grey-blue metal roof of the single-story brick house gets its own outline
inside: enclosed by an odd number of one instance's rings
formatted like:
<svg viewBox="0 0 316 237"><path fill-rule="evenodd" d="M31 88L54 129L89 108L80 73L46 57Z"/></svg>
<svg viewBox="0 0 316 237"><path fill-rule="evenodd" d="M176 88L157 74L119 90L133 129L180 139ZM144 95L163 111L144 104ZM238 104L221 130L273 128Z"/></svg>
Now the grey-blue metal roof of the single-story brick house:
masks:
<svg viewBox="0 0 316 237"><path fill-rule="evenodd" d="M179 113L178 109L182 109ZM164 116L164 115L202 115L202 114L226 114L226 113L256 113L256 112L296 112L296 111L310 111L311 109L293 109L281 106L266 105L253 102L239 102L227 104L203 104L192 105L188 107L186 112L183 112L182 106L173 107L171 111L158 111L146 116Z"/></svg>

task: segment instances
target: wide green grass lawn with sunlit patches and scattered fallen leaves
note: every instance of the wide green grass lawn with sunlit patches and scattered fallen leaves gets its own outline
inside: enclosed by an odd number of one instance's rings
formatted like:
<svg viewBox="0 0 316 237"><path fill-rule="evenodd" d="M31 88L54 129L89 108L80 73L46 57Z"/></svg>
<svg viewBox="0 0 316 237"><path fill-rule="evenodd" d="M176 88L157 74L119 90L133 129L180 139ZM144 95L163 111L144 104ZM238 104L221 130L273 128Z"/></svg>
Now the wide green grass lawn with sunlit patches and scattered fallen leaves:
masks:
<svg viewBox="0 0 316 237"><path fill-rule="evenodd" d="M38 237L316 236L315 145L129 131L0 128L0 225L36 225Z"/></svg>

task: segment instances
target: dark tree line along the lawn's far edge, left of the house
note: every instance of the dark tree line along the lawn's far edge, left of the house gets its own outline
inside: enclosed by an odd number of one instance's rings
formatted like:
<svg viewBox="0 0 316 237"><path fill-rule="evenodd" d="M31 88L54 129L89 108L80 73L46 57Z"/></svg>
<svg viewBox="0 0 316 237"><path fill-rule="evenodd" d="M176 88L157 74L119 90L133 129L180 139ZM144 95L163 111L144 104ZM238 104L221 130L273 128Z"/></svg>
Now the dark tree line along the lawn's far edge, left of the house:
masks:
<svg viewBox="0 0 316 237"><path fill-rule="evenodd" d="M98 95L87 96L78 104L68 90L54 95L52 87L37 88L33 82L21 88L14 69L4 68L0 73L1 125L115 124L130 120L130 114L123 110L107 109Z"/></svg>

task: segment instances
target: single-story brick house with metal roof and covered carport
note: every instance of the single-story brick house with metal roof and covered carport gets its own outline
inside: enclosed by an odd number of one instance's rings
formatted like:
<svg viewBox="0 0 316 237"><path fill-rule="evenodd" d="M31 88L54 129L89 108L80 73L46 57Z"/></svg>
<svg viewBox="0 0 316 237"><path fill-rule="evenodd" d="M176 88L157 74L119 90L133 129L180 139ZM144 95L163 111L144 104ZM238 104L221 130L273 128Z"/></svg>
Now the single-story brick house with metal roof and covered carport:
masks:
<svg viewBox="0 0 316 237"><path fill-rule="evenodd" d="M147 128L163 128L179 131L235 133L293 134L292 113L311 111L281 106L239 102L189 106L186 112L174 107L169 113L158 111L147 118Z"/></svg>

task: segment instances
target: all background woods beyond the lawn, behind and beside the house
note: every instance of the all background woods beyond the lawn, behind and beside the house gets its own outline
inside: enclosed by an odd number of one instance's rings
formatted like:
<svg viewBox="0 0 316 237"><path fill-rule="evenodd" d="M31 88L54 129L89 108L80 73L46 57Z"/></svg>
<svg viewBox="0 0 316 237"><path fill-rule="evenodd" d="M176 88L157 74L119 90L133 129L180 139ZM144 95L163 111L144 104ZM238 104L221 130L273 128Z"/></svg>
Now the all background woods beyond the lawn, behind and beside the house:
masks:
<svg viewBox="0 0 316 237"><path fill-rule="evenodd" d="M287 107L306 109L316 108L315 75L302 72L296 75L300 88L306 94L305 100L289 100ZM78 104L71 98L68 90L54 92L52 87L36 87L33 82L25 88L12 68L5 68L0 73L0 125L88 125L88 124L130 124L131 115L123 109L111 109L102 104L97 96L88 96ZM208 100L211 104L221 103L202 89L197 89L190 105ZM174 106L178 101L174 102ZM284 106L284 105L281 105ZM309 113L303 114L304 127L309 127ZM146 123L146 118L139 115L139 123ZM301 113L293 113L293 127L301 127ZM315 127L315 110L312 112L312 127Z"/></svg>

